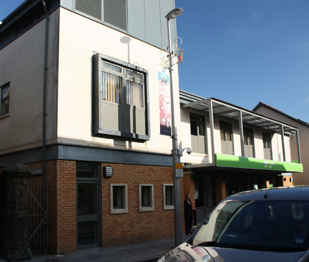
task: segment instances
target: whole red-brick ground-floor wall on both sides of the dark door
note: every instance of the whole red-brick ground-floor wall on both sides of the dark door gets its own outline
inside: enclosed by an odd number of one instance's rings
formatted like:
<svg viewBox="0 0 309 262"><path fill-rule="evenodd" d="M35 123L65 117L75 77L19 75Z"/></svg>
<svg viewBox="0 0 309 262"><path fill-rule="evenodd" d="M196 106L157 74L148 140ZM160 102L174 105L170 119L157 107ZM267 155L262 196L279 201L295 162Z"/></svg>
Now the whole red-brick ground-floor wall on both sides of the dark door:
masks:
<svg viewBox="0 0 309 262"><path fill-rule="evenodd" d="M56 254L74 252L79 248L78 201L82 190L78 184L91 183L91 179L76 177L76 161L52 160L46 162L48 182L48 252ZM41 163L26 164L30 169L41 169ZM122 245L153 239L174 237L174 210L163 208L163 184L174 184L172 167L142 166L134 164L95 163L98 166L98 246ZM104 166L113 167L113 176L104 177ZM41 179L40 175L31 179ZM128 211L111 213L111 184L125 184L128 192ZM154 210L140 212L139 184L152 184ZM181 203L183 203L181 179ZM78 196L80 194L80 196ZM87 220L87 219L86 219ZM183 221L184 224L184 221ZM81 231L82 229L80 229Z"/></svg>

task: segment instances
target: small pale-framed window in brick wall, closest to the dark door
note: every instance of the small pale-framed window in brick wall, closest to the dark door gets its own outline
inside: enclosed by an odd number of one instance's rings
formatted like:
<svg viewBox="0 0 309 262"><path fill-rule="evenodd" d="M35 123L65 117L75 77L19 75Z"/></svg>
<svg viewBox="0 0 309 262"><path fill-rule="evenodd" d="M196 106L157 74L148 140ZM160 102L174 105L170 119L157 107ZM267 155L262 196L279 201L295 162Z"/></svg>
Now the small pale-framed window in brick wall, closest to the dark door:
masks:
<svg viewBox="0 0 309 262"><path fill-rule="evenodd" d="M128 212L128 185L111 184L111 214Z"/></svg>

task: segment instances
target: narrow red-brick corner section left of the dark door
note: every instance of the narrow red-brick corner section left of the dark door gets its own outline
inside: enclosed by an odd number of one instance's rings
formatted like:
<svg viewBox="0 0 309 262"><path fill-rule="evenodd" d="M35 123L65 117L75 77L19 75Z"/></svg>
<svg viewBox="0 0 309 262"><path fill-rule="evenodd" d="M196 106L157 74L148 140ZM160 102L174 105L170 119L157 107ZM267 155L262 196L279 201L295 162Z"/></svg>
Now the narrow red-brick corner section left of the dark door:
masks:
<svg viewBox="0 0 309 262"><path fill-rule="evenodd" d="M26 164L41 169L42 164ZM32 176L30 179L41 179ZM53 160L46 162L48 182L48 252L56 254L76 251L76 162Z"/></svg>

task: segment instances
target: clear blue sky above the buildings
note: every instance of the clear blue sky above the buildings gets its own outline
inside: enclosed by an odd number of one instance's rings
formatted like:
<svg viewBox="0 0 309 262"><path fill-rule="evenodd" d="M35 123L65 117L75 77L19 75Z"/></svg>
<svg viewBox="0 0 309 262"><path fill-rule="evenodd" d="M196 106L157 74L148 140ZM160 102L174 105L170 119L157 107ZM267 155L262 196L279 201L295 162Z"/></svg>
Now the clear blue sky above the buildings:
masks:
<svg viewBox="0 0 309 262"><path fill-rule="evenodd" d="M148 0L149 1L149 0ZM0 0L0 20L23 0ZM309 122L308 0L175 0L180 88Z"/></svg>

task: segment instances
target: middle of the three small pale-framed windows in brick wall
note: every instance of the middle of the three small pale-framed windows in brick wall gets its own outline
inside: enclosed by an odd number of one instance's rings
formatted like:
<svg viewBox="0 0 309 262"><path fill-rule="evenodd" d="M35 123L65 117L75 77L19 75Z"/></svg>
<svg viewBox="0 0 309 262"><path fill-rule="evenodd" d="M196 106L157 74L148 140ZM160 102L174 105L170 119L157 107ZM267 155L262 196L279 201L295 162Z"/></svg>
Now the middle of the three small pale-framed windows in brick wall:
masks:
<svg viewBox="0 0 309 262"><path fill-rule="evenodd" d="M139 184L139 212L155 210L153 194L153 184Z"/></svg>

